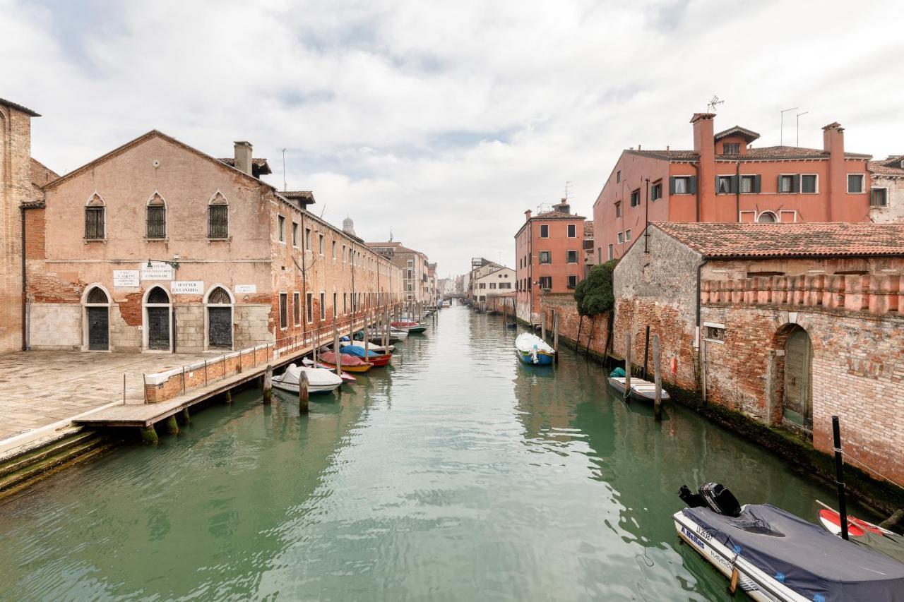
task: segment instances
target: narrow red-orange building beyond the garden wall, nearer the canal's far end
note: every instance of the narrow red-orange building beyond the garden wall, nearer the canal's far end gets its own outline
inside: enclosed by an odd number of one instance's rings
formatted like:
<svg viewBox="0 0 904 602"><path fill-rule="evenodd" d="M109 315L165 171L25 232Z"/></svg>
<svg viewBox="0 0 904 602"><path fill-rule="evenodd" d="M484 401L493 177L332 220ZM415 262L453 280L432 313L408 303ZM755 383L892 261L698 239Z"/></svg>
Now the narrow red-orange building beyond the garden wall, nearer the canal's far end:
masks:
<svg viewBox="0 0 904 602"><path fill-rule="evenodd" d="M540 321L540 293L566 293L584 277L584 221L564 199L552 211L532 215L514 235L518 319Z"/></svg>

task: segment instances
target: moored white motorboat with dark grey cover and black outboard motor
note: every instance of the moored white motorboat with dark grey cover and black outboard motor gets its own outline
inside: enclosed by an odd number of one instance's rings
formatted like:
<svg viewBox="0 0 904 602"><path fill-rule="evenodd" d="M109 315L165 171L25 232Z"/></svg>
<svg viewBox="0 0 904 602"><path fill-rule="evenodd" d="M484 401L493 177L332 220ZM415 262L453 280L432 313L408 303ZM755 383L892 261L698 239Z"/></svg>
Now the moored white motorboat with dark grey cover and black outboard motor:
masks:
<svg viewBox="0 0 904 602"><path fill-rule="evenodd" d="M675 530L730 579L730 590L761 602L904 601L904 564L775 506L740 506L720 484L698 491L682 486L690 507L673 514Z"/></svg>

